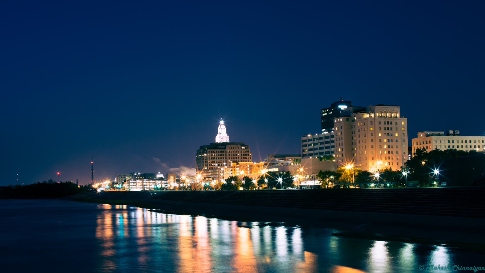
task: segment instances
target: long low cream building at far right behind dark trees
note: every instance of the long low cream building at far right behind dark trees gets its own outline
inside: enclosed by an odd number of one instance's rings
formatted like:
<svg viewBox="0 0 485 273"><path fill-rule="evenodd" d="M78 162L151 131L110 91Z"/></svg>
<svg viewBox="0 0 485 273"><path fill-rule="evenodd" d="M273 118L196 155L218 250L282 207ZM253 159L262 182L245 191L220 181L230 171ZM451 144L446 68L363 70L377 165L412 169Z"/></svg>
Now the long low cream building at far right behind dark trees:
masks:
<svg viewBox="0 0 485 273"><path fill-rule="evenodd" d="M412 142L413 154L416 149L424 149L426 152L434 149L485 152L485 136L460 136L458 130L450 130L446 133L419 132L418 137L413 138Z"/></svg>

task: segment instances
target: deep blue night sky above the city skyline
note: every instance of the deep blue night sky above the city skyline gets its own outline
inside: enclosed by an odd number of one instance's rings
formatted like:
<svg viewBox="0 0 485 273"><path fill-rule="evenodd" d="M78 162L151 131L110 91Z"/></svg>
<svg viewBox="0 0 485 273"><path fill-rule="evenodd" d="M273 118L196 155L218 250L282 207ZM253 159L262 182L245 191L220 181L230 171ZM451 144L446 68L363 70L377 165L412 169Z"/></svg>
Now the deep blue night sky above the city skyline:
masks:
<svg viewBox="0 0 485 273"><path fill-rule="evenodd" d="M483 135L483 1L9 1L0 185L195 167L226 120L254 161L320 109L398 104L408 131ZM157 162L158 158L159 162ZM168 167L165 167L168 166Z"/></svg>

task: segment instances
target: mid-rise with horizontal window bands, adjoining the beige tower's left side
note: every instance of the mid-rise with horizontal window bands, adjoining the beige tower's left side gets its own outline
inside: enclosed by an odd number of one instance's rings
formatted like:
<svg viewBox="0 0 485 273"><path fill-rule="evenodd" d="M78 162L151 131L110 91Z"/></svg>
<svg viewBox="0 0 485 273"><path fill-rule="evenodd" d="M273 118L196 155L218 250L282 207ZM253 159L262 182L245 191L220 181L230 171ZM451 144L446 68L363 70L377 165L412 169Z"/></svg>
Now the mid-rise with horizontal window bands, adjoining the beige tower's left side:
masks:
<svg viewBox="0 0 485 273"><path fill-rule="evenodd" d="M304 135L301 137L302 158L334 155L335 135L325 132L318 135Z"/></svg>

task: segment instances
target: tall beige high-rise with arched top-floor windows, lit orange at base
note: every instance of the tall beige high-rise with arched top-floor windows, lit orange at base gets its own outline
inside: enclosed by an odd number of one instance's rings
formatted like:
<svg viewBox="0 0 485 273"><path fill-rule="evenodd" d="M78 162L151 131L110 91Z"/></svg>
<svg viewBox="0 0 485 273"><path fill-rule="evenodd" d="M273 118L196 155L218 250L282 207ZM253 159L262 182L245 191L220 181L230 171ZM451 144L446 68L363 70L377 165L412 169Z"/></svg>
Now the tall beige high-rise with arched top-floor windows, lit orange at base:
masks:
<svg viewBox="0 0 485 273"><path fill-rule="evenodd" d="M363 171L399 170L407 160L407 119L398 105L349 107L334 119L337 168L354 164Z"/></svg>

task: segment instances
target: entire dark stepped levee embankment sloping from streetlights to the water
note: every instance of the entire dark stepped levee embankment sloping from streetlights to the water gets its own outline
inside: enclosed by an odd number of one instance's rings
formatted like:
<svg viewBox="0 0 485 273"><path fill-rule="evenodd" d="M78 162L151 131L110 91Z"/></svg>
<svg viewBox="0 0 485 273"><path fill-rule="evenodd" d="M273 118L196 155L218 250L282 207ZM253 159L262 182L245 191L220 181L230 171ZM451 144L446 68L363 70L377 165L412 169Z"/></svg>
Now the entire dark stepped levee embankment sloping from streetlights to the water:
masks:
<svg viewBox="0 0 485 273"><path fill-rule="evenodd" d="M399 240L485 245L484 194L485 188L103 191L68 199L136 205L165 213L335 228L354 236L392 235Z"/></svg>

